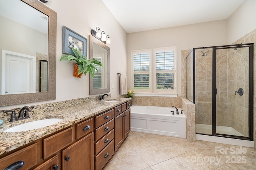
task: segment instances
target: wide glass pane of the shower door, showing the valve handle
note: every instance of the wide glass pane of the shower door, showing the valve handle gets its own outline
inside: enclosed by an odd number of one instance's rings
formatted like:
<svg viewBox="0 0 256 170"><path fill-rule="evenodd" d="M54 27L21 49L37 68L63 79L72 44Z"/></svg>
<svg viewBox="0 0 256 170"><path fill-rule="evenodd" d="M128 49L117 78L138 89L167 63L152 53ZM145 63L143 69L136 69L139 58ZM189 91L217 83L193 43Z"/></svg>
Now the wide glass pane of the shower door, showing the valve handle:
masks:
<svg viewBox="0 0 256 170"><path fill-rule="evenodd" d="M216 134L248 137L248 47L216 49L216 89Z"/></svg>

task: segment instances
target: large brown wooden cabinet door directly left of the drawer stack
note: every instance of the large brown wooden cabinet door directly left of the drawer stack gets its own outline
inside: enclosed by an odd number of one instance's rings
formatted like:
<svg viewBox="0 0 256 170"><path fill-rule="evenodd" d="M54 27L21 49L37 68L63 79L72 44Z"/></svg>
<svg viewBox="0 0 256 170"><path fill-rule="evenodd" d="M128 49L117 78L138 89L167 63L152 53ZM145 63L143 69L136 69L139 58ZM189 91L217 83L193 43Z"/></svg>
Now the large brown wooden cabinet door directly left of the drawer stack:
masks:
<svg viewBox="0 0 256 170"><path fill-rule="evenodd" d="M93 170L93 136L92 132L62 151L62 170Z"/></svg>

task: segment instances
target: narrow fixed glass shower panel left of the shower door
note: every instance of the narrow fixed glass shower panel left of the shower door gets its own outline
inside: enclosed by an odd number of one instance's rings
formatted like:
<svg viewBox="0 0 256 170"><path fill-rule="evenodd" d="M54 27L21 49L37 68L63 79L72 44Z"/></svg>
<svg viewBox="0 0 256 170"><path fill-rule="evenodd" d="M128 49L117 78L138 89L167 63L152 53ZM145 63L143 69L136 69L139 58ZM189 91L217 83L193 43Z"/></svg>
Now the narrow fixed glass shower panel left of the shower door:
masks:
<svg viewBox="0 0 256 170"><path fill-rule="evenodd" d="M195 50L196 132L212 134L212 48Z"/></svg>

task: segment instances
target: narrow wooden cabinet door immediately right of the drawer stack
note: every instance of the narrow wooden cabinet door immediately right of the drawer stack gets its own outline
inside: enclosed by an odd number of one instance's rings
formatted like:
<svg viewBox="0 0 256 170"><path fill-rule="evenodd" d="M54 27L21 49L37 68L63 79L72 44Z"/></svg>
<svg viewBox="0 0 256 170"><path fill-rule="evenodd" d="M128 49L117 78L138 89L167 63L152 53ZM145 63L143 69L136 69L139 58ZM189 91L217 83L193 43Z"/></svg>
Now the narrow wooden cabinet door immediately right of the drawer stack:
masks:
<svg viewBox="0 0 256 170"><path fill-rule="evenodd" d="M120 147L124 140L124 114L120 114L115 118L115 151Z"/></svg>

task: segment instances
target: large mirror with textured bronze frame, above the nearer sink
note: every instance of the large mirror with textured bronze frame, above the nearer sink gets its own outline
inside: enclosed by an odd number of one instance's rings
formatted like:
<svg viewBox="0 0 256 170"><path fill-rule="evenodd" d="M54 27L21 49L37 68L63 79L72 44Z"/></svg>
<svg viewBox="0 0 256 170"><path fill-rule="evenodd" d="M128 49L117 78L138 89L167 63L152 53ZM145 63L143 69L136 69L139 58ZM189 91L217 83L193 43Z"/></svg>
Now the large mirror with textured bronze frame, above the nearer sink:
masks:
<svg viewBox="0 0 256 170"><path fill-rule="evenodd" d="M56 99L57 13L38 0L2 0L0 22L0 107Z"/></svg>

